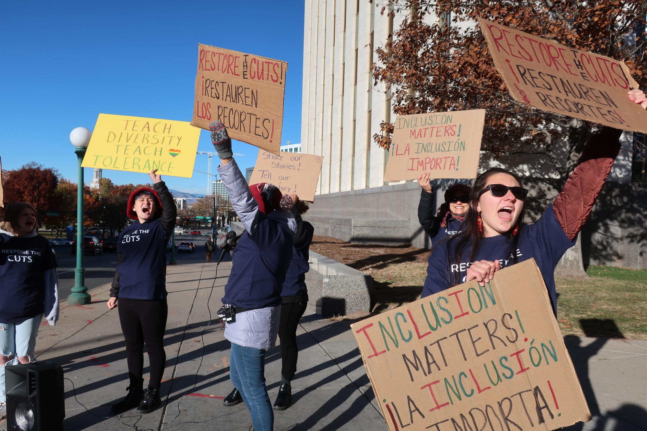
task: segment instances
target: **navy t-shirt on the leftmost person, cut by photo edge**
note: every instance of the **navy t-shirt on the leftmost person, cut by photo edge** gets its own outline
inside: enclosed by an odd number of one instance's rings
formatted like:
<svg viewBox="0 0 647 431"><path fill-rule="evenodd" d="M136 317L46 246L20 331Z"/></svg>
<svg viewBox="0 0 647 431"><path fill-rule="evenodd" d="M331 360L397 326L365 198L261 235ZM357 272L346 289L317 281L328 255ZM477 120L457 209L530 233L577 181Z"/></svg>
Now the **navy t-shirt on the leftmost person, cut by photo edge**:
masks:
<svg viewBox="0 0 647 431"><path fill-rule="evenodd" d="M36 317L45 308L45 271L56 268L47 239L0 233L0 323Z"/></svg>

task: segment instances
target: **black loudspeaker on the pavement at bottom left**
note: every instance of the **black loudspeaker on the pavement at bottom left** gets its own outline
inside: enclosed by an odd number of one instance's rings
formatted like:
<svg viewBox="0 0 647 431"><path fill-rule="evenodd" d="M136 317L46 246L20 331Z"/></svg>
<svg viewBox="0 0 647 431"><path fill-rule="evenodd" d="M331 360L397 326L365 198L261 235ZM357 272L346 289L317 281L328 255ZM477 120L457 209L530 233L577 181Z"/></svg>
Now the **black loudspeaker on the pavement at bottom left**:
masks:
<svg viewBox="0 0 647 431"><path fill-rule="evenodd" d="M60 431L63 368L47 361L5 367L7 431Z"/></svg>

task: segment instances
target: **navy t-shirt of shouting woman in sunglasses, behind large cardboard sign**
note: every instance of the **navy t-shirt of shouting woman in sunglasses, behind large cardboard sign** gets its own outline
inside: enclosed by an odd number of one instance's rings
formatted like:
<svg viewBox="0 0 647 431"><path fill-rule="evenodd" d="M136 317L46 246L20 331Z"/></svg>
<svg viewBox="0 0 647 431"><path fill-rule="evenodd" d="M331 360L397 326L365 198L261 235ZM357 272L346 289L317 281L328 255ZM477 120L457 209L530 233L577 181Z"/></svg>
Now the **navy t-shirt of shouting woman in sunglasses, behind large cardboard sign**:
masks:
<svg viewBox="0 0 647 431"><path fill-rule="evenodd" d="M516 255L517 262L523 262L534 258L537 266L542 272L543 282L551 296L553 311L557 313L557 296L555 292L554 271L564 252L575 245L576 240L569 240L564 233L555 216L553 205L544 211L542 218L534 224L524 225L519 229L516 250L513 250L513 239L505 235L483 238L481 249L476 253L475 260L499 260L501 268L514 264ZM451 242L452 251L458 240L444 240L435 247L429 256L427 267L427 278L424 280L422 297L432 295L455 284L465 282L466 271L473 262L468 262L470 256L471 242L465 247L463 259L460 264L451 265L451 273L448 274L448 262L454 257L454 253L447 253L448 244Z"/></svg>

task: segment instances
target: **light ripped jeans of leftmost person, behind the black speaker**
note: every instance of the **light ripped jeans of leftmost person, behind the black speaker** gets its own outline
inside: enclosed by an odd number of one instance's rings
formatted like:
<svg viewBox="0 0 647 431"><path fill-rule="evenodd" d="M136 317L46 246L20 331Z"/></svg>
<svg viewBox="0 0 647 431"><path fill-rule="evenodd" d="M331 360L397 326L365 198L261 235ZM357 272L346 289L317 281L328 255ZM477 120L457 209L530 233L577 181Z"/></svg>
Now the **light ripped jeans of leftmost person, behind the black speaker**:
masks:
<svg viewBox="0 0 647 431"><path fill-rule="evenodd" d="M34 361L41 320L42 314L15 323L0 323L0 403L6 402L5 365Z"/></svg>

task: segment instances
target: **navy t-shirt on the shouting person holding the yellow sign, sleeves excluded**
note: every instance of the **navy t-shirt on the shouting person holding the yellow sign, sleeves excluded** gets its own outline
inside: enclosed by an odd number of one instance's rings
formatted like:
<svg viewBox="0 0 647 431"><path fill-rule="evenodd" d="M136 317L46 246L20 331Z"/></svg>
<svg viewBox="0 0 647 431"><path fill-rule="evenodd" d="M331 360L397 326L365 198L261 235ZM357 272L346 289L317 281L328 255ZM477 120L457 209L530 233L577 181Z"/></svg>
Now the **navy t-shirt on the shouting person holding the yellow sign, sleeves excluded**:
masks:
<svg viewBox="0 0 647 431"><path fill-rule="evenodd" d="M162 228L162 219L133 222L119 234L117 252L122 262L119 297L130 299L166 298L166 244L171 232Z"/></svg>

